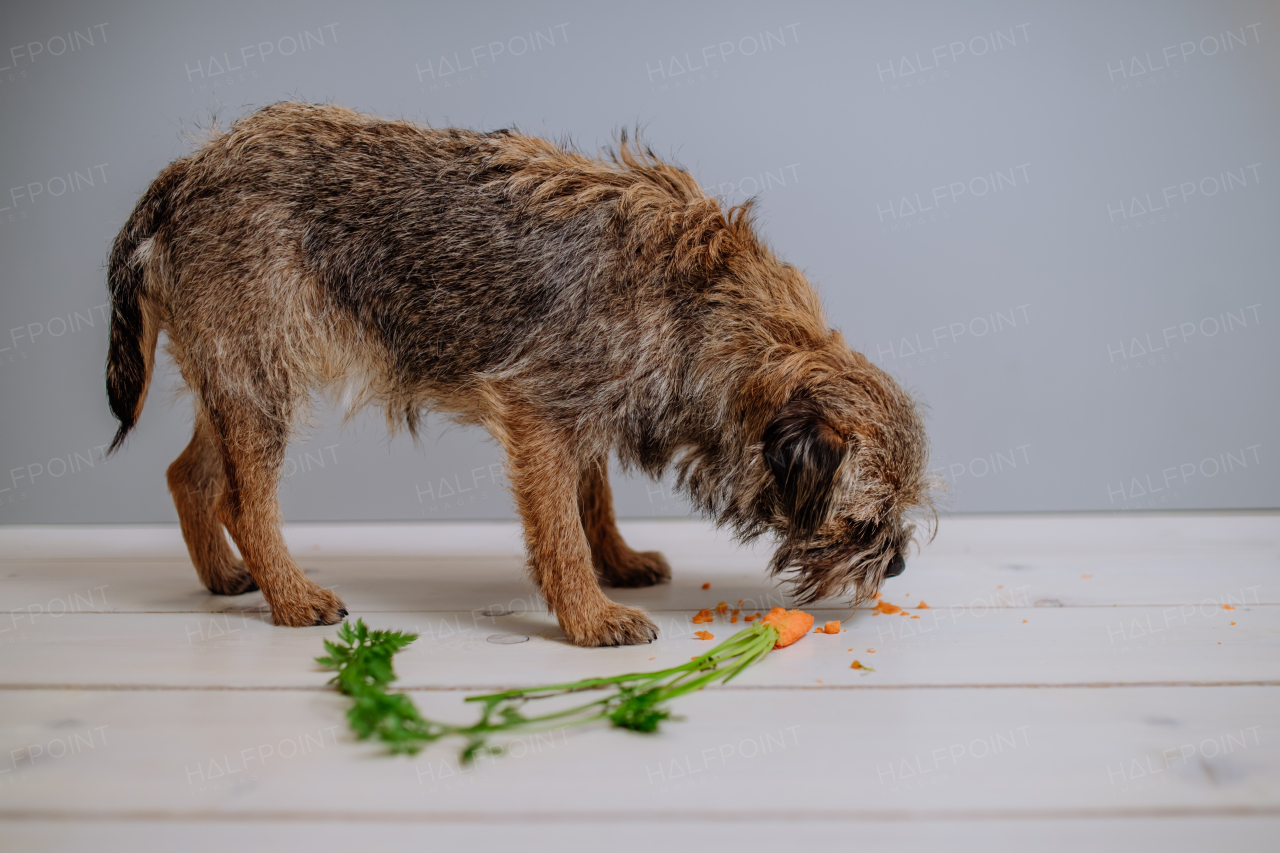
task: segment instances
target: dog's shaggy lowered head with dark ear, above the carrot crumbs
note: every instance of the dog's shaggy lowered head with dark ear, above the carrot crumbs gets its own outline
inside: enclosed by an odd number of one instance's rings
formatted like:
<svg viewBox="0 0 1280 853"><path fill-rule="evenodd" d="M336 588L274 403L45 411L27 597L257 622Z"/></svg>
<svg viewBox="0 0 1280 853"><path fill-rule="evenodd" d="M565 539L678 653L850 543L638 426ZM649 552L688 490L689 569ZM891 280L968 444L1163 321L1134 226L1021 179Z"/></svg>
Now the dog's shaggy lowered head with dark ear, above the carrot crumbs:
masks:
<svg viewBox="0 0 1280 853"><path fill-rule="evenodd" d="M762 437L759 507L781 538L772 571L801 603L876 594L906 566L913 517L932 512L928 443L915 402L851 353L801 384Z"/></svg>

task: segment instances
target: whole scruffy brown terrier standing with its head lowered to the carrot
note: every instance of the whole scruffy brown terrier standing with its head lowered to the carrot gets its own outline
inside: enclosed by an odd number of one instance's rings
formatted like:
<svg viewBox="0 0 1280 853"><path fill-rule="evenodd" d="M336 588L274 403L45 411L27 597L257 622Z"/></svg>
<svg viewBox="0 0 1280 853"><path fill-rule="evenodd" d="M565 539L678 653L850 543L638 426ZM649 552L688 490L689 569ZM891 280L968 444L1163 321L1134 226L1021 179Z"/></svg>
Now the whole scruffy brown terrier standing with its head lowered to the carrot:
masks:
<svg viewBox="0 0 1280 853"><path fill-rule="evenodd" d="M605 462L660 476L741 538L780 539L803 602L873 596L928 507L911 398L828 328L818 296L687 172L626 136L593 159L512 131L282 102L170 164L110 256L106 388L137 421L156 339L193 392L169 467L209 589L278 625L347 615L280 534L276 482L314 389L484 425L529 565L579 646L657 637L600 589L669 578L618 534ZM243 555L234 558L223 534Z"/></svg>

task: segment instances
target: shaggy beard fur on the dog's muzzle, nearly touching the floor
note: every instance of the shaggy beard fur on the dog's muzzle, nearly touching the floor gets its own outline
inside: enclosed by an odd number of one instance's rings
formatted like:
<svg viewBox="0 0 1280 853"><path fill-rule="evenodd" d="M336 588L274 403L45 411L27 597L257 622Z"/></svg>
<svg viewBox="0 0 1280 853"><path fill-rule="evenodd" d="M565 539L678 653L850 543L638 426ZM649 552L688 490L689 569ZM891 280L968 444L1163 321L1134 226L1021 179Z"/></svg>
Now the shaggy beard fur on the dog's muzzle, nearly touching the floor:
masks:
<svg viewBox="0 0 1280 853"><path fill-rule="evenodd" d="M785 538L773 555L769 573L787 576L799 605L847 593L852 607L869 601L915 532L910 524L887 523L837 521L835 528L808 539Z"/></svg>

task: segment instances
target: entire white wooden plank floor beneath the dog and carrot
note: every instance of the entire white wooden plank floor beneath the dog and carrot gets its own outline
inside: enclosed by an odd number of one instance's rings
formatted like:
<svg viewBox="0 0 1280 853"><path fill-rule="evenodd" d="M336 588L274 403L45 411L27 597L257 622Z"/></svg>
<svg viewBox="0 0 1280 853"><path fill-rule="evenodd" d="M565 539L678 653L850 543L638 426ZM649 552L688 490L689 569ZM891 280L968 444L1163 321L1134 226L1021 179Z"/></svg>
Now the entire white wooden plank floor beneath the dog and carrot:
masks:
<svg viewBox="0 0 1280 853"><path fill-rule="evenodd" d="M662 637L580 649L515 525L287 533L352 617L421 634L401 685L440 719L471 719L468 692L686 661L700 607L782 603L764 551L625 524L675 580L612 596ZM947 517L884 589L910 615L812 634L658 735L463 768L452 744L355 742L312 663L334 629L209 596L177 528L0 528L0 848L1276 849L1277 573L1275 514Z"/></svg>

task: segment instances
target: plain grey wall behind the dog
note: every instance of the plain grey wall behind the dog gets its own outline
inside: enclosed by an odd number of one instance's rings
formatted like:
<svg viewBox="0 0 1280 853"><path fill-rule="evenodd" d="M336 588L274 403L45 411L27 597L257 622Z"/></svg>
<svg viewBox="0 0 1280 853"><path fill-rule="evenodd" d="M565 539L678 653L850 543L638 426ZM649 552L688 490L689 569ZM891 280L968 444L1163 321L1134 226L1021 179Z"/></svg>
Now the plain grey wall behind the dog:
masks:
<svg viewBox="0 0 1280 853"><path fill-rule="evenodd" d="M294 97L643 123L928 406L951 511L1275 507L1280 4L4 4L0 524L169 521L191 412L102 388L106 251L184 133ZM500 456L321 410L293 520L508 517ZM684 515L669 483L623 516Z"/></svg>

